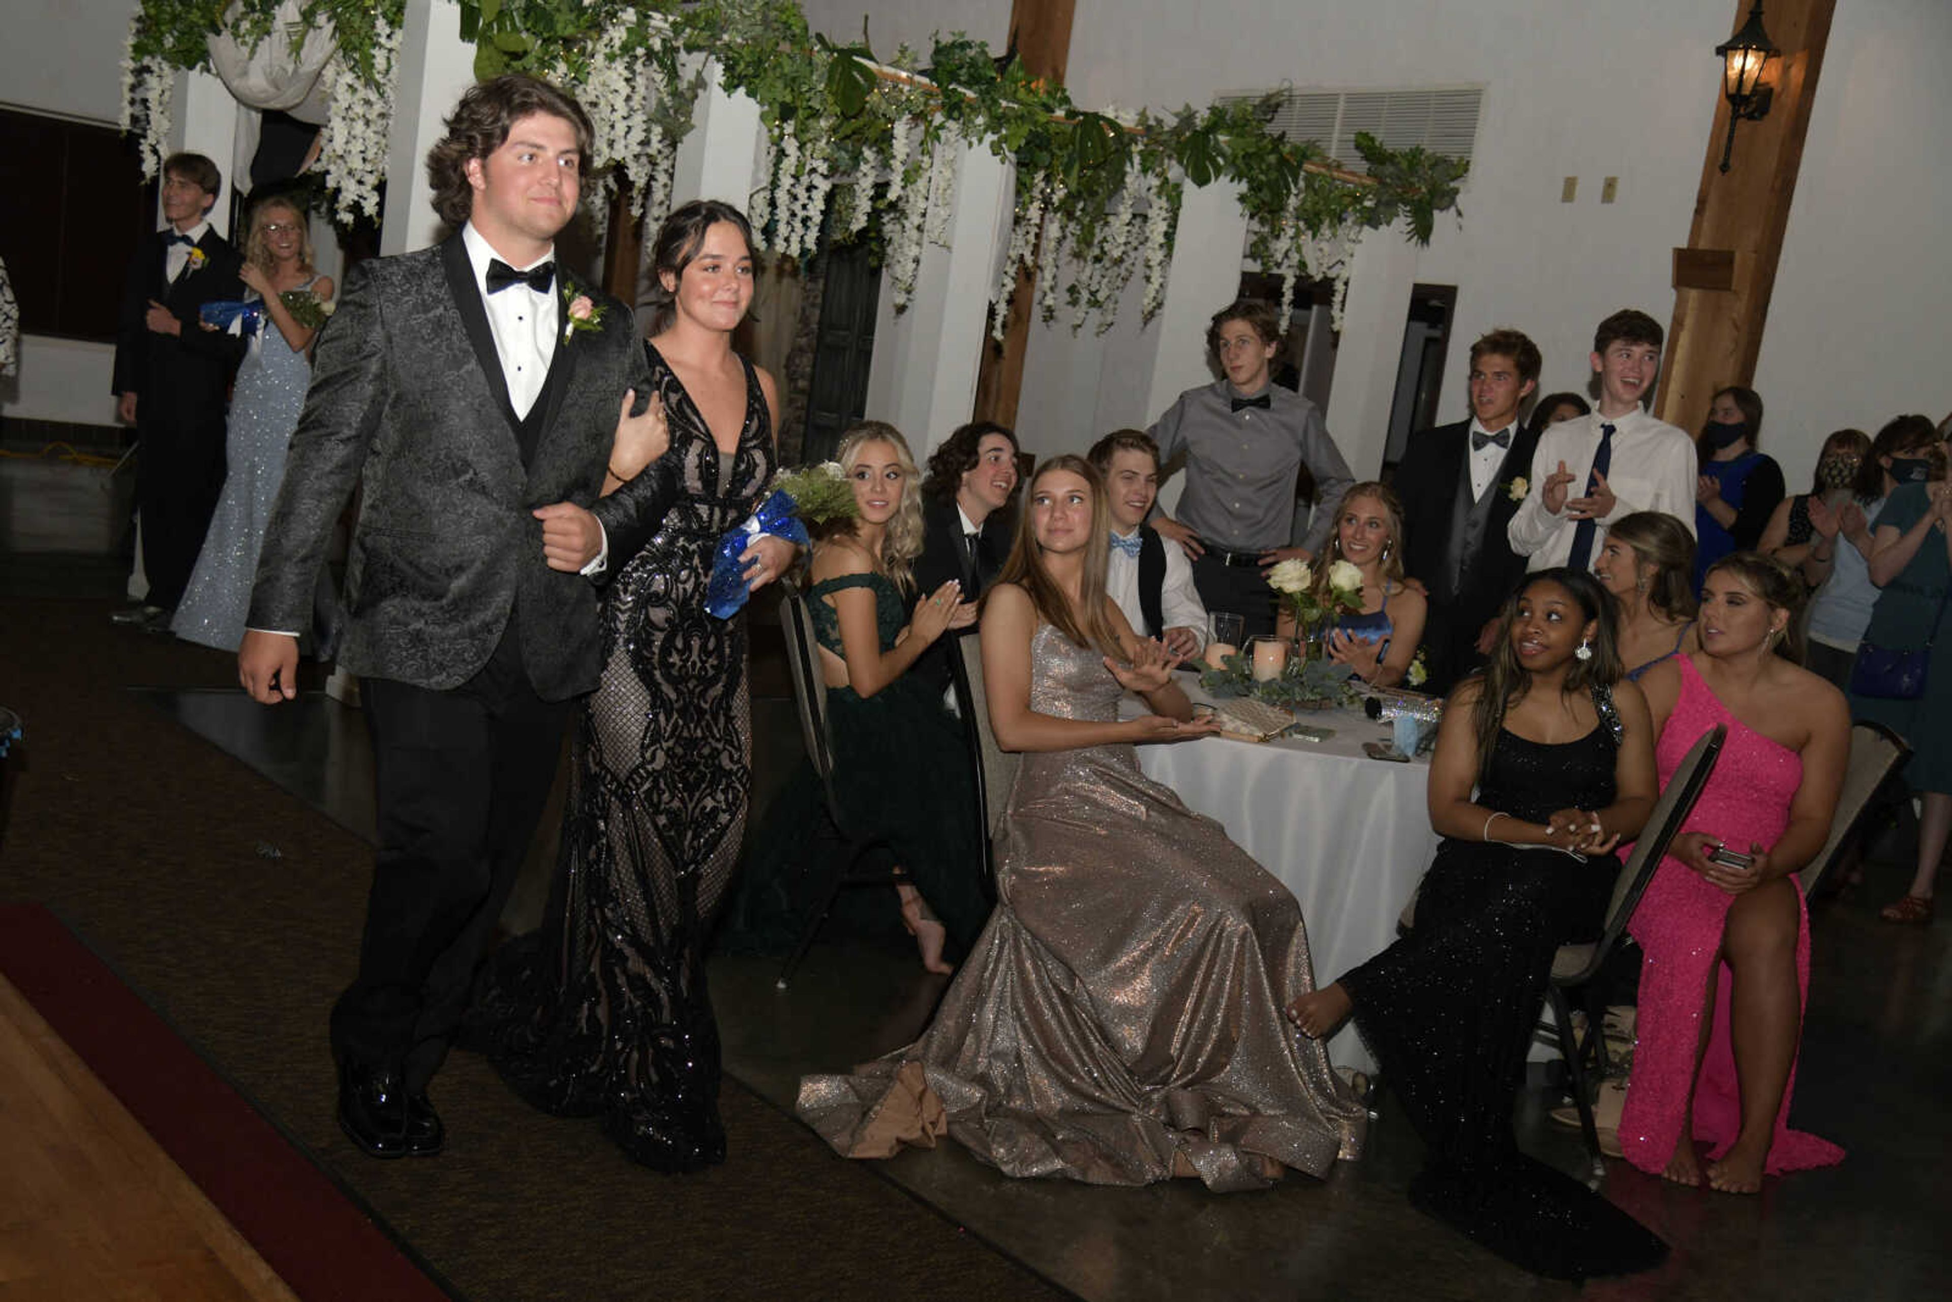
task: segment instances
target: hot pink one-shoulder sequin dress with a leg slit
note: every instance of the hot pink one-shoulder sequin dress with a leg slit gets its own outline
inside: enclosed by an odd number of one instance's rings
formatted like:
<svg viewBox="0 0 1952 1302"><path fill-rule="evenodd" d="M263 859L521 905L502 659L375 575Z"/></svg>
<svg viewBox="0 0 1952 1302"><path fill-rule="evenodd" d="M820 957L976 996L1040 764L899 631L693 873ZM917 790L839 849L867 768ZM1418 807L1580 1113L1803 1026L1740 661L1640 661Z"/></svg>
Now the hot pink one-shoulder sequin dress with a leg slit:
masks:
<svg viewBox="0 0 1952 1302"><path fill-rule="evenodd" d="M1802 757L1729 714L1708 691L1692 658L1677 656L1675 662L1681 666L1681 699L1655 746L1661 785L1667 785L1681 757L1704 732L1728 724L1722 759L1683 832L1706 832L1743 851L1751 841L1774 845L1790 822L1790 800L1804 779ZM1663 1171L1681 1138L1681 1109L1687 1105L1694 1048L1700 1042L1708 964L1716 962L1722 949L1722 923L1731 902L1733 896L1710 886L1669 855L1628 925L1644 958L1634 1074L1620 1115L1620 1148L1642 1171ZM1810 996L1810 910L1804 908L1802 886L1796 888L1796 992L1802 1007ZM1726 1154L1741 1128L1741 1091L1728 1023L1729 968L1726 962L1718 966L1714 1029L1694 1085L1694 1138L1710 1146L1710 1160ZM1794 1093L1796 1064L1790 1064L1782 1107L1776 1111L1776 1134L1769 1144L1765 1169L1770 1175L1843 1161L1843 1150L1829 1140L1790 1130Z"/></svg>

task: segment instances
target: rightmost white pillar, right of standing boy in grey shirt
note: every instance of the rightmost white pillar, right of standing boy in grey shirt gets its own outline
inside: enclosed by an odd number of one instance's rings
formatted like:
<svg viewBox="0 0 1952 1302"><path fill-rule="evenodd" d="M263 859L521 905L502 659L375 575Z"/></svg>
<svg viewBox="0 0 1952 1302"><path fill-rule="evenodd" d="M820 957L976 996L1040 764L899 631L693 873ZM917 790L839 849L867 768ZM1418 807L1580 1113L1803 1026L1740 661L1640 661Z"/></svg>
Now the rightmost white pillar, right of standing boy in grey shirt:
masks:
<svg viewBox="0 0 1952 1302"><path fill-rule="evenodd" d="M1359 480L1382 470L1415 279L1417 246L1403 238L1400 224L1362 234L1349 264L1335 385L1323 412L1335 447Z"/></svg>

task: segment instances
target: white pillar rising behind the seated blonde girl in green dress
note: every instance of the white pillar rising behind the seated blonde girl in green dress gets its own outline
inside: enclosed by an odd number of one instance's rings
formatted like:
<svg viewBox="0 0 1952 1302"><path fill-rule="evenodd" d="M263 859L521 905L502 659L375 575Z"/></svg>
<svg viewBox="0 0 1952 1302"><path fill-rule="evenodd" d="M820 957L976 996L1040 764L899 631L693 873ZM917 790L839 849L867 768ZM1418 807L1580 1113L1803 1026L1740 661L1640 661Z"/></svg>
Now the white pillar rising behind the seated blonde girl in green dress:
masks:
<svg viewBox="0 0 1952 1302"><path fill-rule="evenodd" d="M917 461L976 410L976 367L988 344L990 293L1003 267L1013 203L1015 168L986 142L962 142L949 248L923 246L915 293L900 316L894 287L882 279L867 416L908 435Z"/></svg>

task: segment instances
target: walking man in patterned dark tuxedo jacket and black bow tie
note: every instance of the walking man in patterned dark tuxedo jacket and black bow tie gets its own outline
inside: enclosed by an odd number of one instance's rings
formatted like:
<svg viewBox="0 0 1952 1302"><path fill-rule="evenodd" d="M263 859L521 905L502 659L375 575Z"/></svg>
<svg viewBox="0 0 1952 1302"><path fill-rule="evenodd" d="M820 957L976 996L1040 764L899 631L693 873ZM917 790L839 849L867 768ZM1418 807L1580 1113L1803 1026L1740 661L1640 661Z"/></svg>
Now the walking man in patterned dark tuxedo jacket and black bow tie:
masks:
<svg viewBox="0 0 1952 1302"><path fill-rule="evenodd" d="M347 271L238 648L258 701L295 695L295 634L357 480L338 660L363 675L379 855L332 1050L340 1126L375 1158L441 1148L427 1081L570 703L597 683L591 576L621 568L666 506L638 474L664 426L629 416L629 390L650 394L630 308L552 262L588 156L590 119L547 82L498 76L461 98L427 156L459 230Z"/></svg>

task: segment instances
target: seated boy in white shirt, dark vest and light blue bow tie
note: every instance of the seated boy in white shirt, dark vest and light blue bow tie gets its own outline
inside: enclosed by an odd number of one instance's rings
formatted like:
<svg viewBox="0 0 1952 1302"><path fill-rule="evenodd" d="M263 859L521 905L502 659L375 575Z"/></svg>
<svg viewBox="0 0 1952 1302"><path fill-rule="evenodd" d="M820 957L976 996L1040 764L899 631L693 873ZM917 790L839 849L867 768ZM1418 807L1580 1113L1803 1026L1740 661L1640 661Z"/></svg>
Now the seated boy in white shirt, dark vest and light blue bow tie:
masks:
<svg viewBox="0 0 1952 1302"><path fill-rule="evenodd" d="M1193 562L1146 525L1159 496L1159 445L1138 429L1117 429L1085 457L1105 476L1111 508L1105 593L1136 632L1159 638L1175 656L1199 656L1206 644L1206 607L1193 586Z"/></svg>

